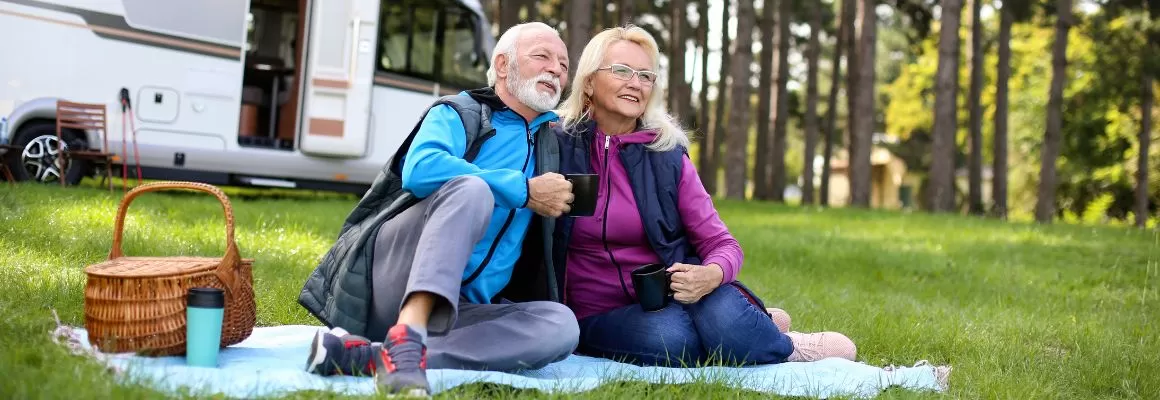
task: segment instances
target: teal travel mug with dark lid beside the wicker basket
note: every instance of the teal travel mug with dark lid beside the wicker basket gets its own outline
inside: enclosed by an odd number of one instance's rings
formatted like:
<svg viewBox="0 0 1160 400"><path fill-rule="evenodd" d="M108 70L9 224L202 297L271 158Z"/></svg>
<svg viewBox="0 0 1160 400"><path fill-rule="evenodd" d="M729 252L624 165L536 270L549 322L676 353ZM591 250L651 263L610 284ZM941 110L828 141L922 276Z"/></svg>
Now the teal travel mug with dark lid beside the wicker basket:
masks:
<svg viewBox="0 0 1160 400"><path fill-rule="evenodd" d="M218 366L224 315L225 292L216 288L189 289L186 306L186 364Z"/></svg>

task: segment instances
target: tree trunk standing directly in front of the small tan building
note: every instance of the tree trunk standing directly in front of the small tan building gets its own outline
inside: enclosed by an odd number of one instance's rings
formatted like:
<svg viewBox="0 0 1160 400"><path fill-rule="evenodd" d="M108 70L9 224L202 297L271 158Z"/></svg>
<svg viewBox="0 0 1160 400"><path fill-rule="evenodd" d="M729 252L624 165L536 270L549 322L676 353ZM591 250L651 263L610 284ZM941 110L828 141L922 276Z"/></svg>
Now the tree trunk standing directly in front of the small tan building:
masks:
<svg viewBox="0 0 1160 400"><path fill-rule="evenodd" d="M857 88L854 94L855 119L850 132L850 205L870 206L870 145L875 129L875 52L878 15L875 0L858 1Z"/></svg>

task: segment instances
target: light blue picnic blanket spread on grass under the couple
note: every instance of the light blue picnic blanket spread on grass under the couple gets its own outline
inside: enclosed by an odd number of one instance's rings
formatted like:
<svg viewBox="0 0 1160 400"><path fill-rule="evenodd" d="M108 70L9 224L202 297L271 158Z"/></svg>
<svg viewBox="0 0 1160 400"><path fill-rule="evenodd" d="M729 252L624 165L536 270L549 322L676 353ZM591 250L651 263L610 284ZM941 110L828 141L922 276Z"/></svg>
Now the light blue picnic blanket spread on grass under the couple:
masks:
<svg viewBox="0 0 1160 400"><path fill-rule="evenodd" d="M255 398L295 391L334 391L374 394L368 377L321 377L303 370L317 326L259 327L241 343L223 349L217 369L187 366L184 357L142 357L132 354L101 354L89 346L86 332L58 327L55 337L77 354L106 363L125 383L139 383L160 391L194 394L219 393L231 398ZM878 368L840 358L811 363L783 363L749 368L641 368L604 358L571 356L539 370L514 373L464 370L428 370L432 391L458 385L493 383L544 392L582 392L612 380L648 383L720 383L757 392L829 398L871 398L890 386L945 391L949 368L920 362L914 366Z"/></svg>

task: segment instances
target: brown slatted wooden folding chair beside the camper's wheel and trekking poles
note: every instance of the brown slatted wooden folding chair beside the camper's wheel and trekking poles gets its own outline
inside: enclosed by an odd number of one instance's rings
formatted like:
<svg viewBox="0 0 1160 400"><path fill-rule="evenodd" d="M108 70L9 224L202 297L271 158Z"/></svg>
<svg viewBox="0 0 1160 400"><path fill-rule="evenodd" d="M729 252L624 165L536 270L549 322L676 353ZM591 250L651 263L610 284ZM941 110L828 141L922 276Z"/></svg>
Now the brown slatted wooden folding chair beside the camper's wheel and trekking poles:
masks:
<svg viewBox="0 0 1160 400"><path fill-rule="evenodd" d="M96 165L104 165L104 177L109 181L109 191L113 191L113 160L114 154L109 153L108 121L106 118L104 104L77 103L71 101L57 101L57 141L60 153L60 186L65 186L65 176L68 172L68 163L72 160L92 160ZM68 148L64 150L64 137L60 132L64 129L75 129L81 131L96 131L101 136L102 145L100 150Z"/></svg>

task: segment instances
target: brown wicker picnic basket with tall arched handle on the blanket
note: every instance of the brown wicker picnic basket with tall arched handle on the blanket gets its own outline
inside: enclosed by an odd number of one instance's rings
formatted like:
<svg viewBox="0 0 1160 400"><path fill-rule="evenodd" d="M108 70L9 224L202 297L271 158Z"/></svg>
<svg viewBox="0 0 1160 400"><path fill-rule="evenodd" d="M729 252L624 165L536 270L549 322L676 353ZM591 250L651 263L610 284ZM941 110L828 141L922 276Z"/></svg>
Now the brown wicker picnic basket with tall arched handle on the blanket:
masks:
<svg viewBox="0 0 1160 400"><path fill-rule="evenodd" d="M122 230L129 203L162 189L191 189L213 195L225 211L225 255L218 257L124 256ZM186 296L190 288L225 291L222 347L241 342L255 321L253 260L241 259L233 239L233 209L218 188L195 182L157 182L133 188L121 202L113 228L109 260L85 268L85 329L104 352L154 356L186 352Z"/></svg>

